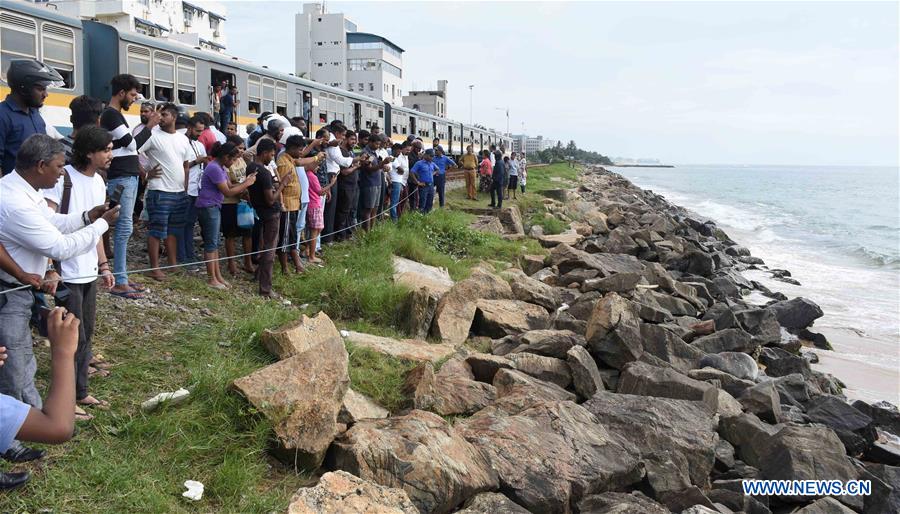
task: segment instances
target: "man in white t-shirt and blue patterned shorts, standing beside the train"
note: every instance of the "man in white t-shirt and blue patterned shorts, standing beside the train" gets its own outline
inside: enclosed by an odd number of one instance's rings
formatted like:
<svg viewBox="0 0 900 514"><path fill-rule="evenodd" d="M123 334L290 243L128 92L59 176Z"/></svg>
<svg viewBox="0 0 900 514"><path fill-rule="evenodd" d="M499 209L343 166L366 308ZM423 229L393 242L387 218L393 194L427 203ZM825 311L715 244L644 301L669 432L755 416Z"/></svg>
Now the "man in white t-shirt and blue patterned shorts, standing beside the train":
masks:
<svg viewBox="0 0 900 514"><path fill-rule="evenodd" d="M178 108L166 104L160 111L159 130L154 130L150 138L139 148L146 155L150 166L159 166L159 174L147 181L147 213L150 223L147 227L147 253L150 267L147 275L156 280L165 280L166 274L159 268L159 248L166 242L168 264L177 264L178 235L184 229L187 211L187 188L190 177L190 162L194 159L187 137L175 130Z"/></svg>

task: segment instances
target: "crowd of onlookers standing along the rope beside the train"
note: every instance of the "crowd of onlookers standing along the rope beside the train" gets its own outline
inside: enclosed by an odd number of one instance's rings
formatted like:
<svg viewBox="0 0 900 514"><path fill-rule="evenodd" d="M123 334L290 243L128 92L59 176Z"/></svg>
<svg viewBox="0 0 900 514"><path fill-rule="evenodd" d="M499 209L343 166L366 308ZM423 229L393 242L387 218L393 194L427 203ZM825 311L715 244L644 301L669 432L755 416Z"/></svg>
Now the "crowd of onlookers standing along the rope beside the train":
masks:
<svg viewBox="0 0 900 514"><path fill-rule="evenodd" d="M448 170L463 170L471 200L480 175L491 207L525 191L524 159L494 146L480 162L469 146L457 163L437 139L425 149L414 136L394 143L377 126L354 131L339 121L310 137L303 118L272 113L244 139L227 83L216 87L212 113L145 102L130 127L124 113L140 101L141 84L117 75L105 102L72 100L72 132L57 140L39 109L61 81L38 61L14 60L0 102L0 456L11 462L44 456L23 441L64 441L75 420L92 418L89 409L108 407L89 388L106 367L91 351L96 300L101 288L126 300L147 294L129 276L136 224L146 228L149 279L204 264L207 284L228 289L222 262L232 276L252 273L271 297L276 257L283 273L299 273L321 265L323 244L406 212L427 214L435 201L444 207ZM51 345L46 403L35 386L33 326ZM0 473L0 489L28 478Z"/></svg>

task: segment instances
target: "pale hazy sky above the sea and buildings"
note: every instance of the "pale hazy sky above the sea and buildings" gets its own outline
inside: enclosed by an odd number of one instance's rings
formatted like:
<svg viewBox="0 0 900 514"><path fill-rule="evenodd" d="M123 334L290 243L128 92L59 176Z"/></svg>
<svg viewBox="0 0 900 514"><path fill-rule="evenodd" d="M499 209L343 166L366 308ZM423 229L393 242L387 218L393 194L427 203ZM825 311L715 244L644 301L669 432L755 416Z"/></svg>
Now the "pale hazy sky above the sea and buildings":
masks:
<svg viewBox="0 0 900 514"><path fill-rule="evenodd" d="M228 52L294 71L299 1L228 1ZM610 157L897 166L897 2L327 2L448 115ZM278 35L277 37L275 35ZM498 109L500 108L500 109Z"/></svg>

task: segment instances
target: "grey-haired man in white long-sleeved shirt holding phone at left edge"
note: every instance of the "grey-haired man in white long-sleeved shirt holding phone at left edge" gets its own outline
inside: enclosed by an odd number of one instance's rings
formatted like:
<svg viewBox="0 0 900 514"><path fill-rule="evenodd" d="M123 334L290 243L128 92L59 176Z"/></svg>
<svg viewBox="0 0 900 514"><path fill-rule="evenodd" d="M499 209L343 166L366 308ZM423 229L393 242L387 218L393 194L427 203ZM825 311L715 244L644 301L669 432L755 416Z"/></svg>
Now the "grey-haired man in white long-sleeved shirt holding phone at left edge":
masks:
<svg viewBox="0 0 900 514"><path fill-rule="evenodd" d="M97 246L103 233L119 215L119 208L105 205L89 211L55 214L47 206L41 189L56 185L65 164L63 145L44 134L35 134L22 143L16 155L15 170L0 180L0 244L26 274L44 275L49 259L64 261ZM46 287L56 292L56 273L46 277L53 282ZM7 351L0 366L0 393L41 407L41 397L34 385L37 362L31 339L31 308L34 296L28 289L15 289L18 280L0 271L0 346ZM16 443L4 458L14 462L43 456Z"/></svg>

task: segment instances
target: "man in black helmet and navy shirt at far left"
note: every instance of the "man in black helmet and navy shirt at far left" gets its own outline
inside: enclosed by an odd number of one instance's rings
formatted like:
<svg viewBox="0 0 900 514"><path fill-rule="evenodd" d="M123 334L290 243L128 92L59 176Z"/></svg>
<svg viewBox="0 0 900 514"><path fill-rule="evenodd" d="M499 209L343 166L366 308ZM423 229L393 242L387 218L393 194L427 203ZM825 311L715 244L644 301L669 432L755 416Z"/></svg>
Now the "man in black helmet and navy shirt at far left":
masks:
<svg viewBox="0 0 900 514"><path fill-rule="evenodd" d="M3 175L16 166L22 142L33 134L46 134L47 124L38 109L44 106L48 87L60 87L63 78L53 68L34 59L9 64L6 82L10 93L0 102L0 169Z"/></svg>

